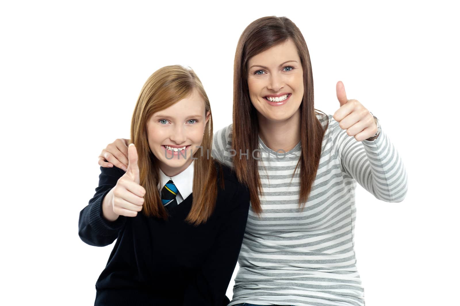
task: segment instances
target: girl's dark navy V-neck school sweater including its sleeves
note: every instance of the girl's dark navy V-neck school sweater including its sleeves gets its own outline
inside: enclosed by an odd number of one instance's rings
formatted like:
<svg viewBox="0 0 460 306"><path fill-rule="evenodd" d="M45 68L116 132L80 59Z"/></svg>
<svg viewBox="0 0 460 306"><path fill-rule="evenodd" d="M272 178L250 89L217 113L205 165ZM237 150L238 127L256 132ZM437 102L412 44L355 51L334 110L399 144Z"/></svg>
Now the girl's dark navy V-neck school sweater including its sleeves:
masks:
<svg viewBox="0 0 460 306"><path fill-rule="evenodd" d="M114 222L102 215L104 196L125 173L103 168L94 197L80 212L79 235L85 243L105 246L114 242L104 271L96 282L94 305L223 306L241 248L249 209L249 192L227 166L222 166L220 188L210 219L199 226L184 221L193 194L185 198L167 221L119 216Z"/></svg>

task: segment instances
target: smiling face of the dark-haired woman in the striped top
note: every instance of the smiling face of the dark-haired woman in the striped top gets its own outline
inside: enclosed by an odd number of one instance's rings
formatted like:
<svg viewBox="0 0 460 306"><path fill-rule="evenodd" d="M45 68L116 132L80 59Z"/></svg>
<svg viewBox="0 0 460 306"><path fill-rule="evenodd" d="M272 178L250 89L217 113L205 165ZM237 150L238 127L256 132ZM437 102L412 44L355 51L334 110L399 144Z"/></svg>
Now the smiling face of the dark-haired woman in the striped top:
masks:
<svg viewBox="0 0 460 306"><path fill-rule="evenodd" d="M247 61L249 97L259 117L281 122L300 112L303 70L292 40L274 45Z"/></svg>

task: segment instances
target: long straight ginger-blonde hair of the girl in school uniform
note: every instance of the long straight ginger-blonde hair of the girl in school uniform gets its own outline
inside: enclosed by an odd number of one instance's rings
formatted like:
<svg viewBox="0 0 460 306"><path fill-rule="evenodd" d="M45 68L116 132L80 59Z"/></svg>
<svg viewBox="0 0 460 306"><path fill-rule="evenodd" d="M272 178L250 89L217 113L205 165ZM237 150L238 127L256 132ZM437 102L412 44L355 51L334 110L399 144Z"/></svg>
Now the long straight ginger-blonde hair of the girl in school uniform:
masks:
<svg viewBox="0 0 460 306"><path fill-rule="evenodd" d="M160 68L150 75L139 94L132 114L131 141L136 145L138 152L140 185L146 191L142 208L146 216L167 219L167 211L161 204L160 193L157 189L160 180L158 159L149 147L147 122L154 113L190 96L194 89L204 100L205 114L210 113L201 143L203 150L210 152L213 140L213 116L203 85L193 70L179 65ZM193 157L196 158L192 190L193 202L185 221L198 225L206 222L213 213L217 198L217 170L213 159L208 159L207 154L202 154L197 150Z"/></svg>

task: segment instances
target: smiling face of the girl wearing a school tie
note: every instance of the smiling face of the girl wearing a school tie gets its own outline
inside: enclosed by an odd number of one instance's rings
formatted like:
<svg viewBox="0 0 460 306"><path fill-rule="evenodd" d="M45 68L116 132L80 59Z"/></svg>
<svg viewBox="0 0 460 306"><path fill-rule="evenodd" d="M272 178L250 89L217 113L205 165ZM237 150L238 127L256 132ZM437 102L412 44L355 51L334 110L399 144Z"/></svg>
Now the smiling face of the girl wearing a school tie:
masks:
<svg viewBox="0 0 460 306"><path fill-rule="evenodd" d="M192 163L209 114L205 114L204 100L194 89L190 96L154 113L147 121L150 150L167 176L178 175Z"/></svg>

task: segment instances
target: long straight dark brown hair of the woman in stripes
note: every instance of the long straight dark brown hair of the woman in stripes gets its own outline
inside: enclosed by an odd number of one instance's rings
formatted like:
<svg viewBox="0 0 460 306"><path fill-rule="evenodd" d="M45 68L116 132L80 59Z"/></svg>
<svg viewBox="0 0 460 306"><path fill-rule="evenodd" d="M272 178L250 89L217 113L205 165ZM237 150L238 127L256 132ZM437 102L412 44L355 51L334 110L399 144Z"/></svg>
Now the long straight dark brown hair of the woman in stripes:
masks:
<svg viewBox="0 0 460 306"><path fill-rule="evenodd" d="M248 60L274 45L291 39L297 47L303 69L304 97L300 104L300 141L302 151L299 162L294 169L300 167L299 206L304 208L316 177L324 132L328 126L328 116L324 113L326 127L316 118L314 108L313 74L307 44L299 28L287 17L262 17L247 26L241 34L236 46L233 75L233 131L232 149L235 152L251 152L259 148L259 121L257 111L249 98L247 86ZM248 128L249 131L248 132ZM259 154L257 155L259 156ZM257 157L256 156L256 157ZM258 160L249 158L233 159L238 179L249 187L251 205L255 213L260 214L259 194L262 184L259 177Z"/></svg>

